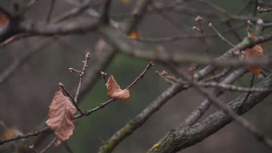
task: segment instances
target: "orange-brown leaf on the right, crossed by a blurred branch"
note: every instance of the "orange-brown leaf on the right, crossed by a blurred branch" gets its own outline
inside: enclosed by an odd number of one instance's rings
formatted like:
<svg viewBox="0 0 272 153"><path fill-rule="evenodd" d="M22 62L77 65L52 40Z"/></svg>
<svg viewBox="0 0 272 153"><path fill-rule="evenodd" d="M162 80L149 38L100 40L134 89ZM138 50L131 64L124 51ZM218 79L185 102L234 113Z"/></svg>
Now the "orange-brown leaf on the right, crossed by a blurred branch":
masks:
<svg viewBox="0 0 272 153"><path fill-rule="evenodd" d="M256 37L255 35L251 34L250 37ZM253 46L252 48L247 48L245 50L245 59L256 59L261 58L263 56L263 50L260 44ZM247 66L246 67L251 73L255 75L259 75L261 71L261 66Z"/></svg>

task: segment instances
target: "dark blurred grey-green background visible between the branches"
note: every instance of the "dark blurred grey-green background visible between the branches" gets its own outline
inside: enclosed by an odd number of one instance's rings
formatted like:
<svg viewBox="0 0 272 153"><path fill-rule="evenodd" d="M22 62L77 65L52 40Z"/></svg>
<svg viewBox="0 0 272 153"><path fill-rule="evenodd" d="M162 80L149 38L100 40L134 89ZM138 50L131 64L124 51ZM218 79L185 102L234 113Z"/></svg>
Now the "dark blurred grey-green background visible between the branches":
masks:
<svg viewBox="0 0 272 153"><path fill-rule="evenodd" d="M229 13L239 12L249 0L230 0L230 1L210 1L224 8ZM25 5L28 1L17 1L20 5ZM270 1L262 1L270 3ZM112 4L111 17L117 22L123 23L129 18L132 8L137 3L136 0L114 0ZM169 3L169 1L154 1L154 3ZM10 9L11 1L4 0L0 5ZM272 4L271 4L272 5ZM26 18L34 21L44 22L49 9L49 1L37 2L26 14ZM52 17L61 15L69 11L74 6L65 1L56 1ZM203 16L203 29L205 33L213 33L208 27L210 22L221 32L227 31L228 26L222 22L222 18L217 16L213 9L197 1L188 1L183 5L186 8L193 8L198 12L186 14L184 12L165 11L163 13L147 12L147 15L138 26L138 37L162 38L169 36L181 36L185 34L198 34L192 30L192 26L197 26L194 21L197 15ZM252 15L254 3L244 9L241 14L245 16ZM100 11L100 7L96 8ZM209 13L209 18L206 14ZM263 20L271 20L272 13L261 15ZM246 21L234 21L232 26L243 24ZM254 26L252 27L254 29ZM262 34L270 32L266 29ZM246 25L240 26L237 31L243 39L246 36ZM233 44L239 40L232 34L224 35ZM96 65L97 59L92 58L96 52L98 41L102 37L95 32L84 34L73 34L60 36L56 41L50 42L39 49L37 53L28 58L11 77L0 86L0 120L8 128L22 133L32 132L45 125L47 119L48 106L58 90L58 83L61 82L65 87L75 94L79 78L76 73L71 73L68 68L82 68L82 60L86 52L91 53L89 62L90 70ZM0 72L4 71L16 58L22 56L35 48L44 37L30 37L16 41L0 49ZM213 56L218 56L226 52L230 46L225 44L218 37L208 37L208 45ZM168 43L140 43L140 46L152 48L158 45L165 47L169 52L187 52L197 55L205 55L205 45L202 40L189 39L178 40ZM269 54L271 43L262 45L264 54ZM118 53L104 70L106 73L114 75L115 80L123 89L129 85L143 71L149 61L135 59L127 55ZM181 69L188 69L188 65L180 65ZM74 134L66 142L74 152L97 152L103 141L107 140L116 130L125 125L131 118L139 114L149 103L161 94L169 85L158 75L156 70L168 70L164 65L156 63L154 67L146 74L144 79L139 81L130 90L130 100L115 101L105 108L93 113L88 117L81 118L76 123ZM86 75L88 78L88 74ZM248 87L251 74L246 74L235 84ZM255 83L261 79L256 79ZM99 78L91 90L84 97L80 97L81 108L89 110L100 103L108 100L107 89L104 80ZM230 102L238 97L239 93L228 92L221 98ZM193 89L179 93L156 112L149 120L132 135L124 139L113 152L146 152L154 143L156 143L166 132L176 127L183 119L201 103L204 99L202 95L196 94ZM244 116L259 129L264 131L269 137L272 137L271 120L272 104L271 97L246 113ZM212 107L204 117L207 117L216 109ZM0 127L0 133L4 133L4 128ZM46 134L46 133L45 133ZM40 136L42 136L41 134ZM43 143L36 146L37 150L44 148L51 141L53 135L47 137ZM19 140L21 141L21 140ZM0 152L7 152L7 149L13 142L0 145ZM17 142L15 142L17 143ZM35 145L35 144L34 144ZM200 143L186 148L180 152L270 152L263 144L236 123L231 123L221 129L219 132L211 135ZM31 152L31 150L29 150ZM67 152L64 145L53 146L48 152Z"/></svg>

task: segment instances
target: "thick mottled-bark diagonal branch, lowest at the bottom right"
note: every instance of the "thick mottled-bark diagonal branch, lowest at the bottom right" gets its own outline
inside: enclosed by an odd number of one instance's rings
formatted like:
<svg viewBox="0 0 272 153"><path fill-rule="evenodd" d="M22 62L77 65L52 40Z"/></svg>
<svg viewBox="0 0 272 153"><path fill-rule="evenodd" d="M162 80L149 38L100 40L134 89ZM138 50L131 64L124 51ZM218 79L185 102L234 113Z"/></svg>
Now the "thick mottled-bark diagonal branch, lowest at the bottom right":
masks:
<svg viewBox="0 0 272 153"><path fill-rule="evenodd" d="M264 81L254 86L254 88L271 88L272 79L266 78ZM251 94L248 101L241 106L241 103L246 94L241 95L228 104L228 108L238 113L239 115L244 114L260 101L262 101L270 92L265 93L253 93ZM194 145L206 137L212 135L216 131L223 128L225 125L233 120L232 117L219 110L216 113L210 115L203 121L194 124L192 126L185 126L181 128L173 129L168 132L158 143L154 144L149 149L149 153L160 152L160 153L173 153L183 148ZM261 137L260 137L261 138Z"/></svg>

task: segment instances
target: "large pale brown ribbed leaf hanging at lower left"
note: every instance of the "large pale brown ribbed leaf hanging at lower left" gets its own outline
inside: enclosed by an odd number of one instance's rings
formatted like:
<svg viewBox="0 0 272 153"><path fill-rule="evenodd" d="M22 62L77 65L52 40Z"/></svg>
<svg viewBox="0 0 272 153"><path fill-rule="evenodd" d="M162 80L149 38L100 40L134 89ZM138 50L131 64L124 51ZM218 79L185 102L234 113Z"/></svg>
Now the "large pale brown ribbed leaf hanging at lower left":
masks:
<svg viewBox="0 0 272 153"><path fill-rule="evenodd" d="M76 111L75 106L68 97L65 97L61 91L55 93L49 106L48 120L46 121L46 124L51 127L58 137L55 145L69 139L73 134L75 126L72 121Z"/></svg>

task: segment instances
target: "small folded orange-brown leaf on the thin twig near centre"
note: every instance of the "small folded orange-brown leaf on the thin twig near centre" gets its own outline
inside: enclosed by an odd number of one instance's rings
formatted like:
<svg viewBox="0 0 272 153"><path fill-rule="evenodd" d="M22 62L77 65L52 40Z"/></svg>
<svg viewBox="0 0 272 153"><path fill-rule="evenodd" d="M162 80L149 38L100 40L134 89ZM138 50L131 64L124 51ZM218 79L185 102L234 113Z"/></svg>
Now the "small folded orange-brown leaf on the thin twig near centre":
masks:
<svg viewBox="0 0 272 153"><path fill-rule="evenodd" d="M111 75L106 83L108 89L108 97L116 100L129 101L129 90L121 90L120 86L116 83Z"/></svg>

